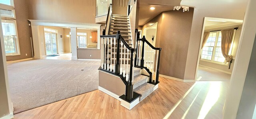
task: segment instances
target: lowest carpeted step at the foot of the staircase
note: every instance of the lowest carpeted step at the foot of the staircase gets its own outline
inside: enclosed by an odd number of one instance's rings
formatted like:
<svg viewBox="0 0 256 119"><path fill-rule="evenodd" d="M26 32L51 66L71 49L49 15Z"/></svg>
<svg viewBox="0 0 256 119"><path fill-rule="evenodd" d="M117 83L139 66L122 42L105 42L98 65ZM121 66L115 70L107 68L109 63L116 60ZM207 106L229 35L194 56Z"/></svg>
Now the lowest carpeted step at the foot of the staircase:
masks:
<svg viewBox="0 0 256 119"><path fill-rule="evenodd" d="M140 101L142 101L144 98L146 98L150 93L154 91L154 85L149 83L144 83L139 87L135 88L133 91L141 95Z"/></svg>

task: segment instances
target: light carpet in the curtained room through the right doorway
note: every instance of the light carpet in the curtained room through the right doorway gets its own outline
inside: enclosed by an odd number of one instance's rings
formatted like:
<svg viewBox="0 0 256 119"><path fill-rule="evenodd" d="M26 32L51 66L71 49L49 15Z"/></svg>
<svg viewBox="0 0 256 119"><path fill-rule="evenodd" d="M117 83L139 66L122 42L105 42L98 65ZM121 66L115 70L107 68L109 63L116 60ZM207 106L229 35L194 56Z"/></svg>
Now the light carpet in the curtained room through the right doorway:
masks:
<svg viewBox="0 0 256 119"><path fill-rule="evenodd" d="M198 66L196 81L230 81L231 74Z"/></svg>

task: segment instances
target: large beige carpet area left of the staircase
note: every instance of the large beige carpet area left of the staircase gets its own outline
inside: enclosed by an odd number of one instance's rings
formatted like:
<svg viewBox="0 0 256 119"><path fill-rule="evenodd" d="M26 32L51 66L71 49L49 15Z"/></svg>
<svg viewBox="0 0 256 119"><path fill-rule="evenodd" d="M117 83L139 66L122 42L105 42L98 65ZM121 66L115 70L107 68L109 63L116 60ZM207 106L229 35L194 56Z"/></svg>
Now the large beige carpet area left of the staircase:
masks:
<svg viewBox="0 0 256 119"><path fill-rule="evenodd" d="M14 113L98 89L100 61L29 60L7 66Z"/></svg>

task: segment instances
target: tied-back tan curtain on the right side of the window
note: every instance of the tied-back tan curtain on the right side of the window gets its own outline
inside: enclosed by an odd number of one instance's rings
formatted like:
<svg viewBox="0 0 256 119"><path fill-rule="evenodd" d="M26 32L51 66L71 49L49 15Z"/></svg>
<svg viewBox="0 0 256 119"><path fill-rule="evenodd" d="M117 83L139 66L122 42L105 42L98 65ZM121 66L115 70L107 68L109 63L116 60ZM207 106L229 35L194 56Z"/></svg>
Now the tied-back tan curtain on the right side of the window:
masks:
<svg viewBox="0 0 256 119"><path fill-rule="evenodd" d="M228 55L228 52L230 50L233 36L234 29L221 30L221 51L222 55L225 57L224 63L230 62L230 60L232 60L232 56Z"/></svg>

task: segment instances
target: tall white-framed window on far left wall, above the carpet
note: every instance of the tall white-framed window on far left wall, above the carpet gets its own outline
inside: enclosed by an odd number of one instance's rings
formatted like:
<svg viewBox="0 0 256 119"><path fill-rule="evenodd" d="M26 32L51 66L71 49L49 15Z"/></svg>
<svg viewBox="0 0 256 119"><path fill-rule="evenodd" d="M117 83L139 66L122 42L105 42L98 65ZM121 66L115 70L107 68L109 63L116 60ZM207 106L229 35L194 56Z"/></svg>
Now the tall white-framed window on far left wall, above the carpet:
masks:
<svg viewBox="0 0 256 119"><path fill-rule="evenodd" d="M6 56L20 55L16 21L2 20L2 29Z"/></svg>

